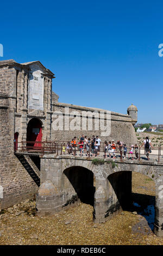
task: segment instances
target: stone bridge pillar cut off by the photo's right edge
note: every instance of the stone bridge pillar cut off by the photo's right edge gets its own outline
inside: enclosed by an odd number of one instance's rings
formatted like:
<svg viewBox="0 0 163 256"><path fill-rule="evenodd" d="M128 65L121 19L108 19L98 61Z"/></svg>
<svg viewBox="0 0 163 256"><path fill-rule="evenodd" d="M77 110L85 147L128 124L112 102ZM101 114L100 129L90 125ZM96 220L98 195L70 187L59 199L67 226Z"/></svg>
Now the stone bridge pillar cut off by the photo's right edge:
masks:
<svg viewBox="0 0 163 256"><path fill-rule="evenodd" d="M155 182L155 223L154 234L163 237L163 178Z"/></svg>

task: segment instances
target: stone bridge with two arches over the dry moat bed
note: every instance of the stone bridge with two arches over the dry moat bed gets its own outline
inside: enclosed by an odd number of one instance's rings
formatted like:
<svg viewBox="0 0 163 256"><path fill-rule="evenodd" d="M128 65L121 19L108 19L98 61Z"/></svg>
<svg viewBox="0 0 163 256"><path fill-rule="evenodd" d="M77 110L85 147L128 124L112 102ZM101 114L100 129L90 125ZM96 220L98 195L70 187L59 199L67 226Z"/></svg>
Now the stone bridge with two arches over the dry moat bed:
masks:
<svg viewBox="0 0 163 256"><path fill-rule="evenodd" d="M95 160L94 160L95 161ZM132 172L155 182L154 233L163 236L163 163L98 160L89 157L41 157L41 186L36 194L38 215L53 215L79 201L93 206L93 221L105 222L131 203Z"/></svg>

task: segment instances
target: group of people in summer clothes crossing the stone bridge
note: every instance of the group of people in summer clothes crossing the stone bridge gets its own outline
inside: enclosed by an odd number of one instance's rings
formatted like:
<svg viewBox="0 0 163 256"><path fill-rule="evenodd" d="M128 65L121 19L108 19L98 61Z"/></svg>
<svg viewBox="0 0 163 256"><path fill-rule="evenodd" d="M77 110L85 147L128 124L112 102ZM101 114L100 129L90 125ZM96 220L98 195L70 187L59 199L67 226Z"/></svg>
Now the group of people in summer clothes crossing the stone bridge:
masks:
<svg viewBox="0 0 163 256"><path fill-rule="evenodd" d="M148 137L146 137L145 141L143 142L143 144L141 145L141 147L145 145L145 151L146 151L146 155L147 155L147 160L149 160L149 153L151 153L151 141ZM86 155L89 156L90 152L91 152L91 156L98 156L99 152L100 152L100 147L101 147L101 139L96 136L93 135L92 138L87 138L87 136L82 135L82 137L80 138L79 142L77 142L77 137L74 137L72 139L71 142L67 142L67 145L65 145L65 143L62 146L62 153L63 154L73 154L74 156L77 155L77 147L79 147L79 151L80 151L80 156L83 155L83 152L85 151ZM141 148L140 147L140 148ZM153 148L153 147L152 147ZM121 157L123 155L123 158L126 159L126 155L127 155L127 145L124 144L121 141L117 141L117 143L115 143L114 139L112 139L111 141L104 142L104 157L112 157L115 159L115 153L117 153L117 151L120 151ZM133 144L129 147L129 152L128 152L128 158L132 160L134 160L134 150L135 150L135 156L136 159L139 160L139 146L137 144ZM109 155L107 154L109 153Z"/></svg>

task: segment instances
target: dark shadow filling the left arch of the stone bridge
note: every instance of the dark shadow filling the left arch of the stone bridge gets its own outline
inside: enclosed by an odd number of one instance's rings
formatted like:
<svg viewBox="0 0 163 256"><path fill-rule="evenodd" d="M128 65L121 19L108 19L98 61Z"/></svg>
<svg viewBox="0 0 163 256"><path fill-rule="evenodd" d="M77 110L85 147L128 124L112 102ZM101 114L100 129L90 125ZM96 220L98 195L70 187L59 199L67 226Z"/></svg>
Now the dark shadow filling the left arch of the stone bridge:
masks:
<svg viewBox="0 0 163 256"><path fill-rule="evenodd" d="M93 173L84 167L71 167L64 170L78 198L82 203L94 206L95 186L93 186Z"/></svg>

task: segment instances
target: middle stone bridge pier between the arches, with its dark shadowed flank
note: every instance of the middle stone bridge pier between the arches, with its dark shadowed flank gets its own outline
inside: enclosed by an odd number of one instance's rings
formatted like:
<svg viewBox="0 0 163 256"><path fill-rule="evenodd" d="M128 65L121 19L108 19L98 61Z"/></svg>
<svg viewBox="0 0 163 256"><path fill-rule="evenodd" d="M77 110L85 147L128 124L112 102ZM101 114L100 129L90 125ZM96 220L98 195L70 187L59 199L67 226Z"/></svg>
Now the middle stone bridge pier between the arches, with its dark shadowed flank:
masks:
<svg viewBox="0 0 163 256"><path fill-rule="evenodd" d="M96 178L93 220L105 222L131 203L131 172L115 172L107 179Z"/></svg>

